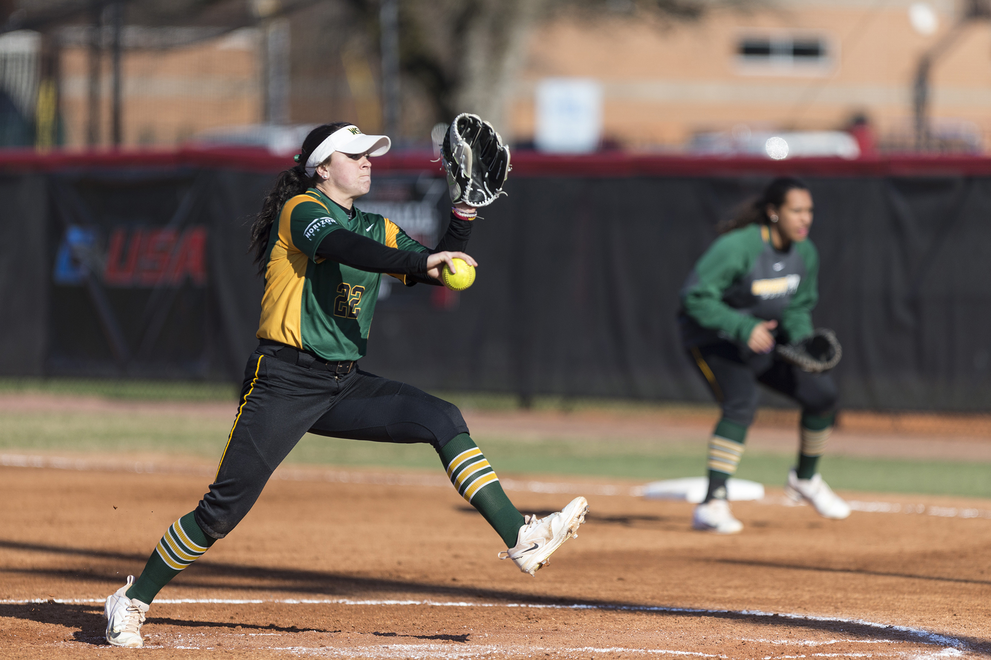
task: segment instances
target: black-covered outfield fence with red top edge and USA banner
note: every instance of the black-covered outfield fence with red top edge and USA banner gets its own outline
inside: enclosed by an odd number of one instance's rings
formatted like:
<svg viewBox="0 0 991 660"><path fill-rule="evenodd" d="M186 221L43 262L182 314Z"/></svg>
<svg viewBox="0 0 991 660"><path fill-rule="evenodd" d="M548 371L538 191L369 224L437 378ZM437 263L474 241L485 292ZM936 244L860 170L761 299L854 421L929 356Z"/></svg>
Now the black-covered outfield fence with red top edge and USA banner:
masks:
<svg viewBox="0 0 991 660"><path fill-rule="evenodd" d="M288 159L250 152L0 157L0 374L240 380L262 282L250 216ZM514 156L482 209L475 285L385 284L362 367L428 389L710 400L677 293L716 222L804 176L846 407L991 408L991 161ZM359 203L425 243L446 186L375 161Z"/></svg>

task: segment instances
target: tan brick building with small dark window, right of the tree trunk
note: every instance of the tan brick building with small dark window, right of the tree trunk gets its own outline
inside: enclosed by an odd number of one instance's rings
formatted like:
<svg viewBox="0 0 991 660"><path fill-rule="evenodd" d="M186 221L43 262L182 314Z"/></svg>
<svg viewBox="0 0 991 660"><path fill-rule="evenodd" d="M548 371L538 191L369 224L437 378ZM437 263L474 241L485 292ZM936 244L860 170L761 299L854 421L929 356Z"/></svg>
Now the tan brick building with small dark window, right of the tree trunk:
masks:
<svg viewBox="0 0 991 660"><path fill-rule="evenodd" d="M561 21L531 41L512 133L532 135L541 78L585 76L602 84L606 138L624 146L680 146L734 128L846 128L862 115L882 146L908 148L920 56L959 11L947 0L778 0L671 26L621 14ZM991 22L961 28L930 83L936 135L991 147Z"/></svg>

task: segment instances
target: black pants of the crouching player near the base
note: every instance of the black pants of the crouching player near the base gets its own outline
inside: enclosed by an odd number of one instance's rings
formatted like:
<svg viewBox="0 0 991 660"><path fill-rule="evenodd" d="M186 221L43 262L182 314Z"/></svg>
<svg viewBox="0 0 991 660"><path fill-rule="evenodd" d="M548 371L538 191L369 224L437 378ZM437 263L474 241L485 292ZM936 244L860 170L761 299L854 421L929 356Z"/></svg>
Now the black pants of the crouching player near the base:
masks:
<svg viewBox="0 0 991 660"><path fill-rule="evenodd" d="M825 415L836 408L838 393L829 374L809 374L779 360L773 352L760 355L730 342L688 349L689 358L712 388L722 417L749 426L760 392L767 385L797 401L807 414Z"/></svg>

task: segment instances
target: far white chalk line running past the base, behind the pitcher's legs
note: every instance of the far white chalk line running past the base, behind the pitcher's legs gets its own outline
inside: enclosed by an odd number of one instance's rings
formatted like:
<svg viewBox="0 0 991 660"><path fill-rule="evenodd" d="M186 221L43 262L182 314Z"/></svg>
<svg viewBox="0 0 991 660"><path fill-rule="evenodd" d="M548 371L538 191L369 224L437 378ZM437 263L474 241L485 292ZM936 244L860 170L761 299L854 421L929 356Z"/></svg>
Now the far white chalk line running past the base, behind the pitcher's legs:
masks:
<svg viewBox="0 0 991 660"><path fill-rule="evenodd" d="M71 459L28 454L0 454L0 466L7 468L47 468L50 470L77 470L82 472L130 472L134 474L189 475L214 477L215 468L189 465L169 465L152 461L107 461ZM323 482L329 484L372 484L378 486L425 486L451 488L451 482L440 475L402 475L389 473L347 472L343 470L296 470L278 468L273 479L283 482ZM607 484L565 484L558 482L522 481L499 478L504 491L515 493L544 493L551 495L626 495L643 496L642 486L611 486ZM795 506L788 497L764 497L765 504ZM803 502L804 503L804 502ZM864 513L918 513L938 517L991 519L991 510L981 508L957 508L928 504L901 504L890 501L849 500L854 511Z"/></svg>

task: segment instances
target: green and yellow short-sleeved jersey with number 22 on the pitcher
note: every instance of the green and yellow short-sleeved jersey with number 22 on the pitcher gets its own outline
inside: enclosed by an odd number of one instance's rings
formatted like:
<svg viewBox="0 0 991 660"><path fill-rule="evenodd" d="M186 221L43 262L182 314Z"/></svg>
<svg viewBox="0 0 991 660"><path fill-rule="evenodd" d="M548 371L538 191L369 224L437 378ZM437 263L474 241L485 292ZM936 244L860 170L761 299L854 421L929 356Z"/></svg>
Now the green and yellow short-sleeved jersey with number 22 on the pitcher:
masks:
<svg viewBox="0 0 991 660"><path fill-rule="evenodd" d="M349 218L316 188L285 202L269 238L259 339L329 361L365 356L382 275L317 256L320 242L346 229L398 250L427 248L383 216L356 211ZM406 275L393 276L406 281Z"/></svg>

